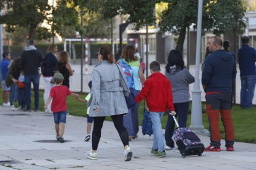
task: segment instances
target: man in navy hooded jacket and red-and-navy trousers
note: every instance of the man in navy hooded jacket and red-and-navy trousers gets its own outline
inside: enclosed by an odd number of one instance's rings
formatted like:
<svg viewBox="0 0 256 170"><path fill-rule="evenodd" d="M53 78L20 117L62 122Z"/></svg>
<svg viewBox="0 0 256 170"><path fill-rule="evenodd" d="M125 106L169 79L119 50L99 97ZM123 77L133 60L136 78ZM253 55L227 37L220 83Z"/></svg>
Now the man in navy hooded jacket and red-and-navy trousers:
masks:
<svg viewBox="0 0 256 170"><path fill-rule="evenodd" d="M231 54L221 49L223 42L219 36L209 39L207 47L211 52L205 60L202 85L205 90L207 116L210 124L210 146L205 151L220 152L221 121L226 132L226 150L234 150L234 127L231 119L232 82L236 78L236 62Z"/></svg>

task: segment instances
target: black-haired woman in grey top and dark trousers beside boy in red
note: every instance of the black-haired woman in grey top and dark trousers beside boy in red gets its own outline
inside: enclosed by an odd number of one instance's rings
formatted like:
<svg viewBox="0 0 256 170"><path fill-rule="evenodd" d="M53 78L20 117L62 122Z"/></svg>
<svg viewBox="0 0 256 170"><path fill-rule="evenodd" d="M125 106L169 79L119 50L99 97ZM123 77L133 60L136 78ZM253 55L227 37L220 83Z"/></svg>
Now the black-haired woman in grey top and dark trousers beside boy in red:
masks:
<svg viewBox="0 0 256 170"><path fill-rule="evenodd" d="M178 122L180 127L186 127L187 114L189 112L189 84L194 83L195 78L189 73L189 70L184 66L181 52L172 50L169 52L168 63L166 65L164 75L171 81L173 91L173 105L179 117ZM166 150L174 148L174 141L171 139L174 131L173 116L168 115L168 120L165 128Z"/></svg>

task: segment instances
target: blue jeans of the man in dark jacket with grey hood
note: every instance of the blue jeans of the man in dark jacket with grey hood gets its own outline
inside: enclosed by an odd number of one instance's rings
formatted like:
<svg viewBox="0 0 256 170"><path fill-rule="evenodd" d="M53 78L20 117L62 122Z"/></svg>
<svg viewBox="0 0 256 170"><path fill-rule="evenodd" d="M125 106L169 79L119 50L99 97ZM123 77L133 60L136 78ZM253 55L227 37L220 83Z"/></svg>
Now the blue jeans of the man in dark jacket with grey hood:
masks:
<svg viewBox="0 0 256 170"><path fill-rule="evenodd" d="M35 110L39 109L39 75L25 75L25 95L27 109L31 108L31 83L33 83L35 94Z"/></svg>

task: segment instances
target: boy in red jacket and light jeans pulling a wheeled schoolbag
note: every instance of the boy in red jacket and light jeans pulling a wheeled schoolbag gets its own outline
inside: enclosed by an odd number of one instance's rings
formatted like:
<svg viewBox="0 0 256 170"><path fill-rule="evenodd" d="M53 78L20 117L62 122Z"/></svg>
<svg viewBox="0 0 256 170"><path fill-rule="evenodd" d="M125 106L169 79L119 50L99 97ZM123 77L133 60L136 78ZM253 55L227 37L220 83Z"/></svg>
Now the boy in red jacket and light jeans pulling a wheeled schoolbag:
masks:
<svg viewBox="0 0 256 170"><path fill-rule="evenodd" d="M160 64L156 61L150 63L151 75L142 86L142 91L135 98L135 102L140 102L146 98L147 107L150 111L153 124L153 146L151 153L156 157L164 157L163 133L161 119L167 108L171 111L170 115L176 115L173 107L173 92L171 91L170 81L160 73Z"/></svg>

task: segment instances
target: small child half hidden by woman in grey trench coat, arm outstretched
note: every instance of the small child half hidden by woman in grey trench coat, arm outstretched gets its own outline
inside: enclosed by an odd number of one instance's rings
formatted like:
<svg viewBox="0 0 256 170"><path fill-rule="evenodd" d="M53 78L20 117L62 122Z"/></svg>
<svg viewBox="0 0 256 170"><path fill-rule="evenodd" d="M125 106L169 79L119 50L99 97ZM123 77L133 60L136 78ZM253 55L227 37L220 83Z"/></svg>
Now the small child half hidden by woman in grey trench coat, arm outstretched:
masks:
<svg viewBox="0 0 256 170"><path fill-rule="evenodd" d="M92 89L92 81L89 81L88 86L90 87L90 89ZM77 100L79 100L79 102L83 102L86 103L90 100L91 98L91 93L89 93L85 99L80 99L77 98ZM89 116L89 110L90 107L87 106L87 136L85 136L84 141L88 142L91 139L91 129L92 129L92 123L93 123L93 117Z"/></svg>

